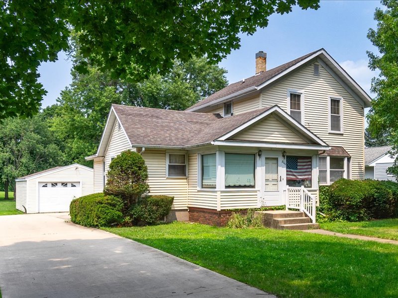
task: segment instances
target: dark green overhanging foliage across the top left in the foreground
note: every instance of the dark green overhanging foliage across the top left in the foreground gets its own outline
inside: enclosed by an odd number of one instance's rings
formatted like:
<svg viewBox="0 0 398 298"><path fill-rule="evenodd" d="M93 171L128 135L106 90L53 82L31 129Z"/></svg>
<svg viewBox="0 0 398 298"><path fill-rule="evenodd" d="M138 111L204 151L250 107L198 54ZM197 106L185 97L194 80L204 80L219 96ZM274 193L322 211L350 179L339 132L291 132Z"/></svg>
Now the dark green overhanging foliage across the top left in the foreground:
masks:
<svg viewBox="0 0 398 298"><path fill-rule="evenodd" d="M175 59L219 62L273 13L319 7L319 0L0 0L0 118L38 111L46 91L37 81L42 62L70 50L112 78L130 82L164 75ZM87 72L87 60L76 68Z"/></svg>

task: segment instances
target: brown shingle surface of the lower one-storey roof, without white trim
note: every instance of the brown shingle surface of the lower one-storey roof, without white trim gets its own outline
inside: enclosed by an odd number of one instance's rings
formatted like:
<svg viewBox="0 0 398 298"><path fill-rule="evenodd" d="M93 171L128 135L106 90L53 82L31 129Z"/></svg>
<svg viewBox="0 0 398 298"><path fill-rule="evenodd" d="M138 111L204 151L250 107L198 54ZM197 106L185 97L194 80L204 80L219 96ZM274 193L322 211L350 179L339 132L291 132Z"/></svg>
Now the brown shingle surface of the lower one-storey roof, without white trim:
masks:
<svg viewBox="0 0 398 298"><path fill-rule="evenodd" d="M210 143L269 109L220 118L219 114L112 106L131 144L160 147Z"/></svg>

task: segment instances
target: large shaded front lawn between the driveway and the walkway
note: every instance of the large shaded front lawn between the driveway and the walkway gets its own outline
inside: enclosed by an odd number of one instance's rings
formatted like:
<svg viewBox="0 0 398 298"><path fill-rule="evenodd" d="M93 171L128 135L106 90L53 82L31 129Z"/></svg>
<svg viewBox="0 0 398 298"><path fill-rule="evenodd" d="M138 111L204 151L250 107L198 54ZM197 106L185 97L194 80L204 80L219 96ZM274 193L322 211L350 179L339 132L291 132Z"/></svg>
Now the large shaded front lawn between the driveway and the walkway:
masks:
<svg viewBox="0 0 398 298"><path fill-rule="evenodd" d="M392 244L188 223L106 230L281 298L398 297Z"/></svg>

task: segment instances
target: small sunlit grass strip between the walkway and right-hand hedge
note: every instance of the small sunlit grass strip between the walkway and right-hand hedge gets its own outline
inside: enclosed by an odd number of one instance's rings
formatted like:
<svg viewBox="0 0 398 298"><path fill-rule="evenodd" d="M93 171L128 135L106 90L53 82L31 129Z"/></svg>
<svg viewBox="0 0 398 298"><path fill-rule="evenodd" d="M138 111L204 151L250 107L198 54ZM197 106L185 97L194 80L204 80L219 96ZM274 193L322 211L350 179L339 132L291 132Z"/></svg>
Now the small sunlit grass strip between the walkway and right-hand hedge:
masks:
<svg viewBox="0 0 398 298"><path fill-rule="evenodd" d="M358 223L323 223L329 231L398 240L398 219L375 220Z"/></svg>

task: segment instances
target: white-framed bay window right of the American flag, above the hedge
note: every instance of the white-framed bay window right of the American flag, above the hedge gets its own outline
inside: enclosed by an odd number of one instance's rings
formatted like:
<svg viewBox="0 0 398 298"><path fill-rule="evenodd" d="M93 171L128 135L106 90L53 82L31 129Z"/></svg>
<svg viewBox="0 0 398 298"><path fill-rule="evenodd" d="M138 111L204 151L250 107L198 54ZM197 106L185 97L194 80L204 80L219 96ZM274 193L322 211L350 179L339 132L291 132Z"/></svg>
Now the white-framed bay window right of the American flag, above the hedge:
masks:
<svg viewBox="0 0 398 298"><path fill-rule="evenodd" d="M348 177L347 157L319 156L319 184L331 184Z"/></svg>

